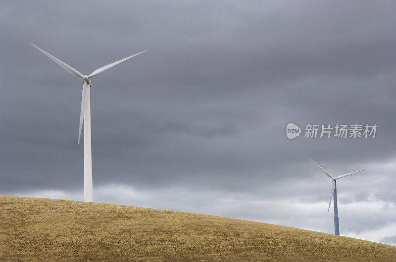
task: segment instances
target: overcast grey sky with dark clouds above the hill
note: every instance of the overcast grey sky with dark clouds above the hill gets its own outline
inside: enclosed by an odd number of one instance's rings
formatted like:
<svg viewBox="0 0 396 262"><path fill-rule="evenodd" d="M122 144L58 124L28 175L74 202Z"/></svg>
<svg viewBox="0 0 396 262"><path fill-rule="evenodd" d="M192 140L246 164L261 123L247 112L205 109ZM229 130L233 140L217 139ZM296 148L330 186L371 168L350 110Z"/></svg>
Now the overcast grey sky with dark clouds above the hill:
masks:
<svg viewBox="0 0 396 262"><path fill-rule="evenodd" d="M394 1L2 1L0 195L83 200L81 78L92 78L95 202L396 245ZM286 125L377 124L289 140Z"/></svg>

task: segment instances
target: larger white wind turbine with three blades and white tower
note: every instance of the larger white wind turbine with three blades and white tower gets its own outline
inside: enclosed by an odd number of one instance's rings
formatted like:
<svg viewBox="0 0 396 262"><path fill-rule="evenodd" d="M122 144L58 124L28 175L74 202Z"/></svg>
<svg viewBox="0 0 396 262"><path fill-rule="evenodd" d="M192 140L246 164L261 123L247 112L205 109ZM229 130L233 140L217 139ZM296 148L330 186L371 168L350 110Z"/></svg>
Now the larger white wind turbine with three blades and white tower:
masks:
<svg viewBox="0 0 396 262"><path fill-rule="evenodd" d="M31 43L32 44L32 43ZM80 136L81 136L81 128L83 126L84 120L84 201L86 202L93 202L94 201L94 194L93 194L93 186L92 186L92 156L91 156L91 102L90 102L90 87L92 86L91 77L95 75L99 75L100 73L115 67L122 62L125 62L132 57L140 55L141 53L146 52L147 50L128 56L124 59L118 60L114 63L108 64L107 66L101 67L90 75L83 75L71 66L63 63L56 57L52 56L51 54L47 53L40 47L32 44L34 47L39 49L43 52L46 56L52 59L56 64L64 68L67 72L72 75L78 76L83 78L83 94L81 97L81 111L80 111L80 127L78 131L78 144L80 144Z"/></svg>

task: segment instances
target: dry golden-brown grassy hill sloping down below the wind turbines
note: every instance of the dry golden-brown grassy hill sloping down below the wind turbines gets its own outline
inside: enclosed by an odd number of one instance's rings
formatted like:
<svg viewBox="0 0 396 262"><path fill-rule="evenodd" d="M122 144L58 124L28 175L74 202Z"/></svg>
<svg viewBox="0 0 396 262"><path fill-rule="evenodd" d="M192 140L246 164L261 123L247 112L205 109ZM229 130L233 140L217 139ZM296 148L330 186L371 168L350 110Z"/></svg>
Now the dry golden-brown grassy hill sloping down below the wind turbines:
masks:
<svg viewBox="0 0 396 262"><path fill-rule="evenodd" d="M396 247L185 212L0 196L0 261L396 260Z"/></svg>

